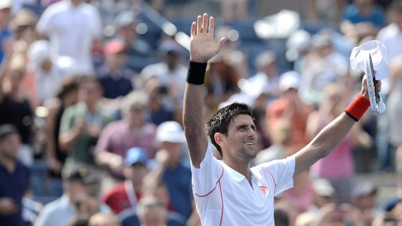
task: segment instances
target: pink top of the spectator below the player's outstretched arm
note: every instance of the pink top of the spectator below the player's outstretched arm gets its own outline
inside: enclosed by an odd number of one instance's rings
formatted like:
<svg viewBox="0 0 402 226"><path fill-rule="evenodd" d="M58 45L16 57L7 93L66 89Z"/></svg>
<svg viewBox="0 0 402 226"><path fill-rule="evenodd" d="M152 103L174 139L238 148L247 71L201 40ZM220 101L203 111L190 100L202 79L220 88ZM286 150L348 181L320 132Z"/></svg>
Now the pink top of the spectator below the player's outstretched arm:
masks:
<svg viewBox="0 0 402 226"><path fill-rule="evenodd" d="M312 165L310 172L328 179L347 179L354 174L352 147L349 135L328 156Z"/></svg>

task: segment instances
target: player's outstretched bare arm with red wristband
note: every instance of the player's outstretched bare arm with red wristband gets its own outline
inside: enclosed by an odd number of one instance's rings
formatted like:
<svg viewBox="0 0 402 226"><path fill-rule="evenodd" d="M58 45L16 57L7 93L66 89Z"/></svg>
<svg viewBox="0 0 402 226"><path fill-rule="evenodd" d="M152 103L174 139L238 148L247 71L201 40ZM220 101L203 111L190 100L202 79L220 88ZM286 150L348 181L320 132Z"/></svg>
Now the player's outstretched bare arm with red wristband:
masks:
<svg viewBox="0 0 402 226"><path fill-rule="evenodd" d="M376 86L379 90L381 90L380 81L377 81ZM361 115L363 115L364 111L370 106L370 102L368 100L369 97L366 76L364 76L362 81L361 95L363 97L360 97L360 99L355 99L353 109L358 107L359 111L361 111ZM349 107L347 109L350 109ZM296 166L293 177L299 175L303 170L327 156L342 142L342 140L346 137L346 134L356 123L355 119L353 119L351 116L355 116L354 111L349 112L349 115L343 112L340 116L338 116L338 118L334 119L330 124L322 129L306 147L295 154Z"/></svg>

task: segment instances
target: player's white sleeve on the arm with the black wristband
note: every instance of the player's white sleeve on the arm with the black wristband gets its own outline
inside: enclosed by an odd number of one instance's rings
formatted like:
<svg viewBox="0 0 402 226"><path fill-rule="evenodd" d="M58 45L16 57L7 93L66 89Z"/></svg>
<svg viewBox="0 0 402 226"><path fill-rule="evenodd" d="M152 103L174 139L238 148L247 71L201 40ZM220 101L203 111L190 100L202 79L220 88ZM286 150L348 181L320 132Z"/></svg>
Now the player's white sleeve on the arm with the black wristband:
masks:
<svg viewBox="0 0 402 226"><path fill-rule="evenodd" d="M223 166L213 156L211 143L208 143L207 151L199 169L191 163L193 192L199 196L208 194L216 187L223 172Z"/></svg>

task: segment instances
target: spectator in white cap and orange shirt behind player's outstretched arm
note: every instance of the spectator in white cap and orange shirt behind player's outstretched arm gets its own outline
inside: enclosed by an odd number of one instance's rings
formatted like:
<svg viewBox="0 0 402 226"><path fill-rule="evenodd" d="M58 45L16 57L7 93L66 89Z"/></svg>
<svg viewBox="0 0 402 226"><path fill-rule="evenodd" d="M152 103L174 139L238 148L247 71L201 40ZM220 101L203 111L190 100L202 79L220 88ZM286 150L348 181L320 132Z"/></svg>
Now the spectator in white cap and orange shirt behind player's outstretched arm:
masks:
<svg viewBox="0 0 402 226"><path fill-rule="evenodd" d="M266 108L266 119L269 129L276 128L280 120L289 120L292 126L290 146L305 145L305 130L308 114L311 108L304 104L299 96L298 89L300 75L297 72L286 72L280 76L279 88L282 96L271 102ZM270 131L272 134L273 131ZM272 136L272 135L271 135Z"/></svg>

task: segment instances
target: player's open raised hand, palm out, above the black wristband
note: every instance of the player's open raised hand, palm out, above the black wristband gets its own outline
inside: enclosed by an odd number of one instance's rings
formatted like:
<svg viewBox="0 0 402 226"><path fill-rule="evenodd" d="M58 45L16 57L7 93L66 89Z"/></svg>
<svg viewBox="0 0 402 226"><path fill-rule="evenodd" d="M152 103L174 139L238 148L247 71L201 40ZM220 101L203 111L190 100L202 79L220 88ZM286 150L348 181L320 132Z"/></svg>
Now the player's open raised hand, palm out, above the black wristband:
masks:
<svg viewBox="0 0 402 226"><path fill-rule="evenodd" d="M222 37L217 44L214 41L214 17L209 18L208 14L197 17L197 22L191 24L190 38L190 60L198 63L206 63L215 56L225 43L226 38Z"/></svg>

